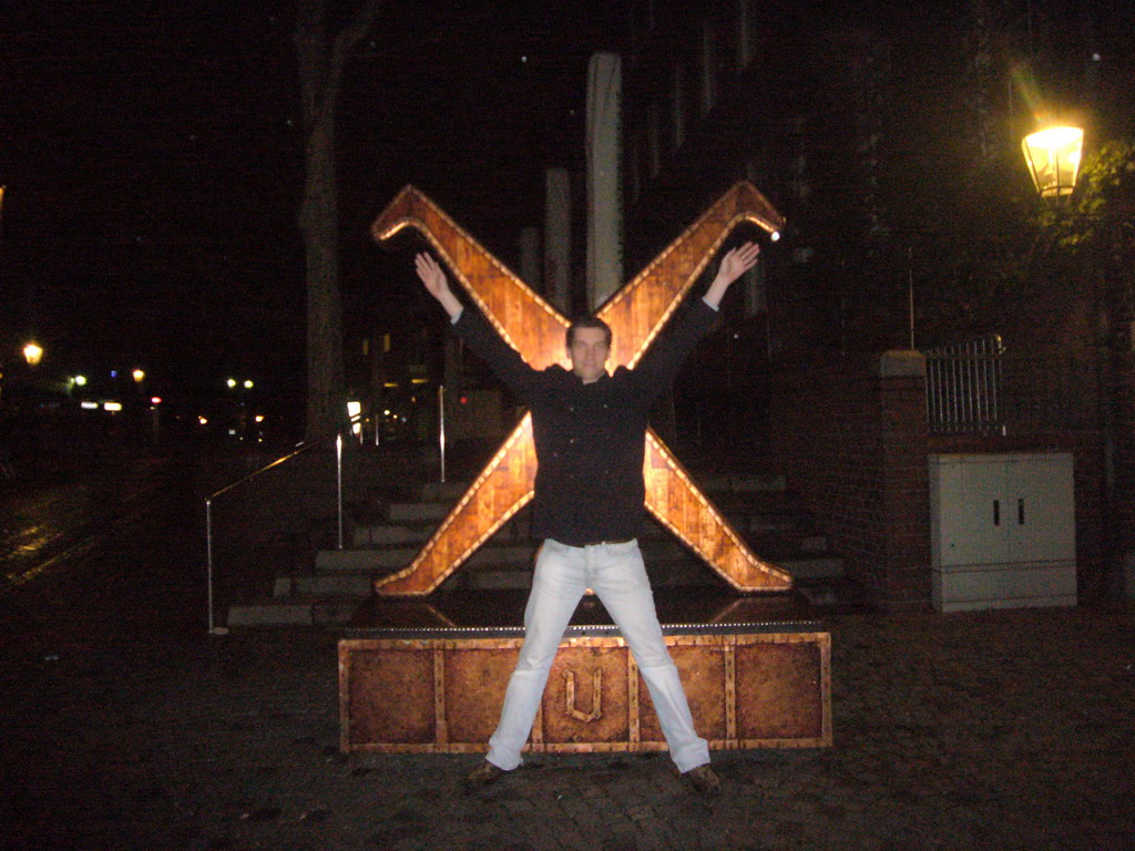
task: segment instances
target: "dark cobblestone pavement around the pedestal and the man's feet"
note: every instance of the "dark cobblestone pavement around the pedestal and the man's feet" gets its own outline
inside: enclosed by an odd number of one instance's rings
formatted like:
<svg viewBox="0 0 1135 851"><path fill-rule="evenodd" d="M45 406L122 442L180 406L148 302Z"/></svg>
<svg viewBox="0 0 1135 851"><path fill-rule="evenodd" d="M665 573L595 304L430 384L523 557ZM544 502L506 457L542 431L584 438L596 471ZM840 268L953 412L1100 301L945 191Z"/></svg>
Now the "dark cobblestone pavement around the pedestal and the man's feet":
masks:
<svg viewBox="0 0 1135 851"><path fill-rule="evenodd" d="M334 634L204 635L196 541L157 507L0 598L0 846L1135 849L1129 606L830 618L834 745L716 752L712 804L664 755L466 795L478 757L339 753Z"/></svg>

